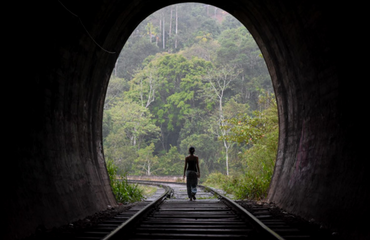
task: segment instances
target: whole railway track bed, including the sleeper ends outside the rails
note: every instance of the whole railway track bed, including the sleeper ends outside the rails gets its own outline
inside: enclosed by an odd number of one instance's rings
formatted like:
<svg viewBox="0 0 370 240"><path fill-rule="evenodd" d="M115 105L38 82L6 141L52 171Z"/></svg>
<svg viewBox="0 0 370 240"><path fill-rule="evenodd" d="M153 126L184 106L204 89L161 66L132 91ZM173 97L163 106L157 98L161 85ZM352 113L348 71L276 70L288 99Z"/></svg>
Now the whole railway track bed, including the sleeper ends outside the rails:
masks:
<svg viewBox="0 0 370 240"><path fill-rule="evenodd" d="M185 184L161 184L156 197L98 224L75 239L313 239L273 219L254 214L213 189L199 186L189 201Z"/></svg>

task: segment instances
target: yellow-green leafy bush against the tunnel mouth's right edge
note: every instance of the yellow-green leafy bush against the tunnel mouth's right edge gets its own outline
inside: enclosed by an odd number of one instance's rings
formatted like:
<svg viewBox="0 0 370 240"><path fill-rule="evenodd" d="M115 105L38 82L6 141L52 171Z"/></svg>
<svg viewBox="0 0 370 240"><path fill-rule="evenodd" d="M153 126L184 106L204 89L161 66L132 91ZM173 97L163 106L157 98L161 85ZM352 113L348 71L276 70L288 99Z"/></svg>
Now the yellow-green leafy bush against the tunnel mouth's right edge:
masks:
<svg viewBox="0 0 370 240"><path fill-rule="evenodd" d="M229 119L230 125L225 126L232 133L225 138L247 145L240 154L244 173L230 179L239 198L265 197L275 165L279 131L276 101L273 95L260 99L266 109Z"/></svg>

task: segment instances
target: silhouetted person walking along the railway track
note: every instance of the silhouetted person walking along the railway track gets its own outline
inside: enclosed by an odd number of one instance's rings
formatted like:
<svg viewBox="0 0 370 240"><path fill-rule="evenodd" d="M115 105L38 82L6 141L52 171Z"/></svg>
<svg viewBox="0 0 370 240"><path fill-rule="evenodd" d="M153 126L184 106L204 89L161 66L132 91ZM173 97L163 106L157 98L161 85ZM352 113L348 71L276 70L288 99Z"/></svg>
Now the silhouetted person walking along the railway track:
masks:
<svg viewBox="0 0 370 240"><path fill-rule="evenodd" d="M189 148L189 156L185 158L184 177L186 174L186 188L190 201L196 200L198 178L200 177L199 159L194 155L195 148Z"/></svg>

